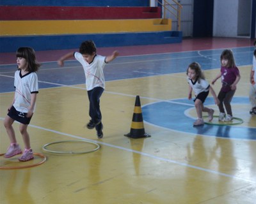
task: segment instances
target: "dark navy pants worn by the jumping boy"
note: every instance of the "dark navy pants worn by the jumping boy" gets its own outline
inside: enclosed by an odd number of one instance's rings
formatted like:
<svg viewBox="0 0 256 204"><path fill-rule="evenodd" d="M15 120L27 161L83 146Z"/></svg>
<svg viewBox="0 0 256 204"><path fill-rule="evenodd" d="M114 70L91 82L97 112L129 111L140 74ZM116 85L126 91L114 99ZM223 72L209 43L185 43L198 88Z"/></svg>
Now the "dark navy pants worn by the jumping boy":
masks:
<svg viewBox="0 0 256 204"><path fill-rule="evenodd" d="M100 96L103 91L104 89L102 87L95 87L87 92L90 101L89 115L92 118L92 122L95 124L101 121Z"/></svg>

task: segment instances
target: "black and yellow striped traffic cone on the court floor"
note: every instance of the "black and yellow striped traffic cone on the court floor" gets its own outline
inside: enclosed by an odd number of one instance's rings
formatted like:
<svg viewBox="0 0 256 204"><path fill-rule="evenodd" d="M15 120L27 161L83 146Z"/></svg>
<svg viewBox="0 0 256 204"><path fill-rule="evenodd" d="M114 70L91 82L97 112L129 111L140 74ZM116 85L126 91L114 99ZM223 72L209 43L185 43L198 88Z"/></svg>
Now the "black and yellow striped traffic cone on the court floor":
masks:
<svg viewBox="0 0 256 204"><path fill-rule="evenodd" d="M140 106L140 96L136 96L134 113L132 117L131 131L124 136L128 136L130 138L147 138L150 137L147 133L145 133L143 117Z"/></svg>

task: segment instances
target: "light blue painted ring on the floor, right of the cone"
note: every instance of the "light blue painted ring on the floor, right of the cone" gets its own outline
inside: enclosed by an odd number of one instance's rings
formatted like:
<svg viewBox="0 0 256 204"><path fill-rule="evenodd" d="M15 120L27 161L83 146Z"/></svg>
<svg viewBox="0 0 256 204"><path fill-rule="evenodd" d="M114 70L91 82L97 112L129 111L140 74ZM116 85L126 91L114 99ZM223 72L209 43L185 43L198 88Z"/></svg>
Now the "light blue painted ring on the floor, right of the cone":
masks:
<svg viewBox="0 0 256 204"><path fill-rule="evenodd" d="M232 104L249 104L249 99L234 97ZM205 100L205 106L207 105L214 105L212 98ZM149 124L180 132L221 138L256 140L256 127L214 126L210 124L193 127L195 119L191 119L184 114L191 106L193 106L193 101L188 99L173 99L147 104L142 107L143 119Z"/></svg>

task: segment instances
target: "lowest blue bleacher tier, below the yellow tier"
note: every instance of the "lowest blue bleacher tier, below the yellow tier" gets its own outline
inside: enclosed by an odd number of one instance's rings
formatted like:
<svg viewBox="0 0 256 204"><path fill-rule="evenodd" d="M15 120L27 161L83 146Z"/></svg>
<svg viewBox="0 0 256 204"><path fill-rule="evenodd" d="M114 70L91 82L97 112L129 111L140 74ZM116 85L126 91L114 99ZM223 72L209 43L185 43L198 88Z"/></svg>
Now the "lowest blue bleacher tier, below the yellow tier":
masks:
<svg viewBox="0 0 256 204"><path fill-rule="evenodd" d="M182 32L159 31L154 33L74 34L62 36L26 36L0 38L0 52L15 52L17 47L39 50L65 50L78 48L82 41L93 40L97 47L129 45L156 45L180 43Z"/></svg>

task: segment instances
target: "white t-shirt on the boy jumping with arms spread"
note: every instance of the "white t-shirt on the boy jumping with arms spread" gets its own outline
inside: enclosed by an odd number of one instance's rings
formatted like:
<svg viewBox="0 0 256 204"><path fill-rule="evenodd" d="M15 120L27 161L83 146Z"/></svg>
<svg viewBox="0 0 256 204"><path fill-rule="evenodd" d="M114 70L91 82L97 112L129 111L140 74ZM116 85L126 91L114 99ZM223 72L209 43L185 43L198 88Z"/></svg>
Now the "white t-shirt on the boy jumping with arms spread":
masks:
<svg viewBox="0 0 256 204"><path fill-rule="evenodd" d="M87 91L90 91L95 87L102 87L105 89L103 68L106 65L106 57L95 55L93 61L90 64L84 60L83 55L79 52L74 52L74 57L83 66Z"/></svg>

